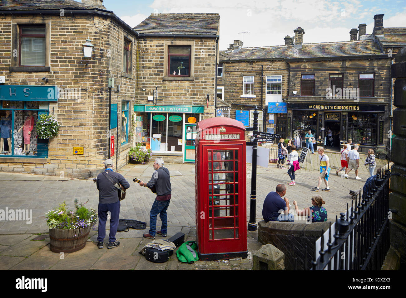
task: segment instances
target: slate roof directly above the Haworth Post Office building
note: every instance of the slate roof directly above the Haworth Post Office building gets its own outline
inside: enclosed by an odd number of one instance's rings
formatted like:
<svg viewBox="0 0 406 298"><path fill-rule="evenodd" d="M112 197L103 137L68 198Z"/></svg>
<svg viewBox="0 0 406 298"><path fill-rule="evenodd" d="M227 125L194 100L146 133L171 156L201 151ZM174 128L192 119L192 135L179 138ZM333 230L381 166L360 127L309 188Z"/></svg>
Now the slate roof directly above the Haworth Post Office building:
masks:
<svg viewBox="0 0 406 298"><path fill-rule="evenodd" d="M156 13L133 29L139 34L219 35L218 13Z"/></svg>

